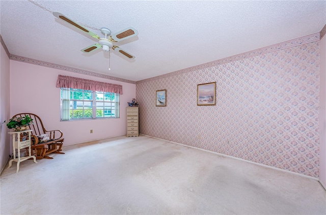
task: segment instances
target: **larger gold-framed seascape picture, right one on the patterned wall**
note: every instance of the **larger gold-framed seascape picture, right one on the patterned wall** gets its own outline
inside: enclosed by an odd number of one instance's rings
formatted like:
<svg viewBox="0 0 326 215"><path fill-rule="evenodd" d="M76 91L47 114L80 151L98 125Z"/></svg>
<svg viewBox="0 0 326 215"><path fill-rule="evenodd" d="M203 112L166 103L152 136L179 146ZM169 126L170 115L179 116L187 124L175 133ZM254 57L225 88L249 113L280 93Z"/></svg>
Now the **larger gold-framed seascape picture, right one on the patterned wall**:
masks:
<svg viewBox="0 0 326 215"><path fill-rule="evenodd" d="M197 105L216 105L216 82L197 85Z"/></svg>

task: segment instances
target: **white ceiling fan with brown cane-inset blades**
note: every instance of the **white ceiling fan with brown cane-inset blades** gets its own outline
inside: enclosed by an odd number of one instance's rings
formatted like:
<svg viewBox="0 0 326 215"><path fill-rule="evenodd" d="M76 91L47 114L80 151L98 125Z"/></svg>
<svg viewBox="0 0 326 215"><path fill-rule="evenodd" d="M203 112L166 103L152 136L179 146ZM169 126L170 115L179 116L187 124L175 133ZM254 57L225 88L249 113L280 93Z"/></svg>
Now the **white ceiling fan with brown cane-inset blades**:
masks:
<svg viewBox="0 0 326 215"><path fill-rule="evenodd" d="M101 28L101 33L105 36L105 38L100 38L98 35L96 35L95 33L91 32L90 30L88 30L87 28L83 27L82 25L79 25L77 22L73 21L72 19L68 18L65 15L62 15L61 13L58 12L53 12L53 15L59 19L62 19L66 22L68 22L69 24L75 26L76 28L83 30L83 32L89 34L90 36L98 39L98 43L95 43L91 46L88 46L84 49L82 49L81 51L85 52L85 53L89 53L91 51L94 51L98 48L102 48L103 51L108 52L108 50L110 48L112 48L115 51L118 51L120 54L123 54L124 56L128 57L129 59L133 59L135 58L133 55L129 54L128 52L124 51L123 49L121 49L119 46L115 46L113 45L113 43L115 42L119 42L134 36L138 35L138 31L136 29L134 29L133 27L128 27L126 29L121 30L118 33L115 33L113 35L111 35L111 30L106 28L106 27L102 27Z"/></svg>

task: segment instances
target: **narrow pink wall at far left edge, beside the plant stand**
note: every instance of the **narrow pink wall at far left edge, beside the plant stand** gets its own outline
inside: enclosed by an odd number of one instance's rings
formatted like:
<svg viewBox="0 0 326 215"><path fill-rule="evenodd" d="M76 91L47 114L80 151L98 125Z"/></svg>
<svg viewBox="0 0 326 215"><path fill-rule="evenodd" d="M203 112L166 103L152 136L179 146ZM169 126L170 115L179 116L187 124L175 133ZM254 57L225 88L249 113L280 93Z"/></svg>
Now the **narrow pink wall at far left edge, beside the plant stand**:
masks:
<svg viewBox="0 0 326 215"><path fill-rule="evenodd" d="M1 75L0 75L0 123L10 118L9 72L10 60L2 45L0 45ZM6 124L0 124L0 168L3 170L10 154L9 129Z"/></svg>

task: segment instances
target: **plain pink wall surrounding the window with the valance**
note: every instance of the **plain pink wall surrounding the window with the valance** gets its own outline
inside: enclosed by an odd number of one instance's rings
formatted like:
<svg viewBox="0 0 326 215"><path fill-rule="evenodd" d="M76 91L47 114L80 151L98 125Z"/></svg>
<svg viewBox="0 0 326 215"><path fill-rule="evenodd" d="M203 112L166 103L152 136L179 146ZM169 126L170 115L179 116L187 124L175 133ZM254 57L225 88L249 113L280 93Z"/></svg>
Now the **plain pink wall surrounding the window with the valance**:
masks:
<svg viewBox="0 0 326 215"><path fill-rule="evenodd" d="M60 88L56 87L59 74L122 85L120 118L60 121ZM35 113L47 130L63 131L64 145L71 145L126 135L125 107L135 97L135 84L10 60L10 97L10 115ZM91 129L93 134L90 134Z"/></svg>

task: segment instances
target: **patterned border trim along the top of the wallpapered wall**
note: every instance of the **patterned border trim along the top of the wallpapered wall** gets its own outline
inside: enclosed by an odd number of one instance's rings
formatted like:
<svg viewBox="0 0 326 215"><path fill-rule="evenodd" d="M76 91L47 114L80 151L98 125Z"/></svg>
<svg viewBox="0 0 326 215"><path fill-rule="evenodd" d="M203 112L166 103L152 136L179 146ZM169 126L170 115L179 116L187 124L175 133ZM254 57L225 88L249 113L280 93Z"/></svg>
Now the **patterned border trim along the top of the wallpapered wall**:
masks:
<svg viewBox="0 0 326 215"><path fill-rule="evenodd" d="M188 73L188 72L192 72L192 71L196 71L196 70L201 70L201 69L205 69L205 68L209 68L209 67L214 67L214 66L217 66L217 65L230 63L230 62L233 62L233 61L236 61L236 60L240 60L240 59L244 59L244 58L248 58L248 57L253 57L253 56L256 56L256 55L260 55L260 54L265 54L265 53L269 53L269 52L273 52L273 51L278 51L278 50L289 48L289 47L292 47L292 46L298 46L298 45L302 45L302 44L305 44L305 43L311 43L311 42L314 42L314 41L319 41L320 40L320 35L321 35L321 33L316 33L316 34L313 34L313 35L308 35L308 36L297 38L297 39L294 39L294 40L289 40L289 41L286 41L286 42L283 42L283 43L278 43L278 44L267 46L267 47L264 47L264 48L255 49L253 51L244 52L242 54L237 54L237 55L222 58L222 59L219 59L219 60L214 60L214 61L209 62L209 63L205 63L205 64L197 65L197 66L194 66L194 67L189 67L189 68L186 68L186 69L178 70L178 71L175 71L175 72L167 73L167 74L164 74L164 75L159 75L159 76L155 76L155 77L152 77L152 78L147 78L147 79L144 79L144 80L140 80L140 81L137 81L136 84L149 82L149 81L154 81L154 80L159 80L159 79L162 79L162 78L168 78L168 77L171 77L171 76L176 76L176 75L180 75L180 74L183 74L183 73Z"/></svg>

